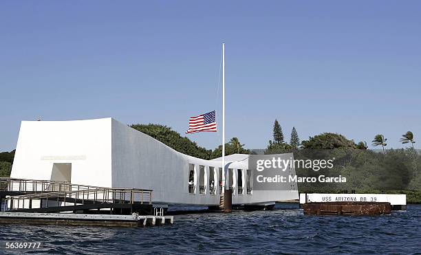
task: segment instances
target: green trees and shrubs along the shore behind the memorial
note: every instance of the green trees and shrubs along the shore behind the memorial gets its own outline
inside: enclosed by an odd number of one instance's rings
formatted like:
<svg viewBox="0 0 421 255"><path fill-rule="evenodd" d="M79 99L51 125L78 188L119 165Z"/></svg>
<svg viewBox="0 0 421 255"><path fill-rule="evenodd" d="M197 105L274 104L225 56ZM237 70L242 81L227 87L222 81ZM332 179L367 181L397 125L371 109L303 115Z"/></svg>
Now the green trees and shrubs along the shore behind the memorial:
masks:
<svg viewBox="0 0 421 255"><path fill-rule="evenodd" d="M215 159L222 156L222 146L213 150L192 142L188 137L160 124L132 124L131 128L146 133L160 142L186 155L202 159ZM273 125L273 140L263 153L294 153L294 159L334 159L334 168L312 170L296 168L299 177L318 175L347 178L346 183L299 183L300 192L314 193L385 193L406 194L407 203L421 203L421 155L415 150L411 131L404 133L402 144L408 148L387 149L387 138L374 136L373 146L381 146L380 151L368 149L367 142L354 142L338 133L321 133L300 142L295 127L291 131L290 142L285 142L281 125L277 120ZM245 148L237 137L226 143L226 155L235 153L257 154ZM0 153L0 177L10 177L14 152Z"/></svg>

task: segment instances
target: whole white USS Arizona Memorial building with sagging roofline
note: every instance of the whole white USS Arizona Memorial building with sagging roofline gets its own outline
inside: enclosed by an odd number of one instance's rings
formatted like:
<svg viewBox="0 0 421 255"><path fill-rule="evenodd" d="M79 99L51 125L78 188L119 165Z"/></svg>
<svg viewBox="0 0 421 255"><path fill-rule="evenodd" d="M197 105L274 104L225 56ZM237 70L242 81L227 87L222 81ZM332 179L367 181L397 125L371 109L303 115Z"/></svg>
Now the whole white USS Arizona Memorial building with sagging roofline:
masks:
<svg viewBox="0 0 421 255"><path fill-rule="evenodd" d="M234 205L299 198L295 187L253 190L255 173L247 159L226 156L226 187L220 187L221 159L184 155L113 118L23 121L11 177L150 189L153 203L160 204L218 206L223 188L233 190Z"/></svg>

